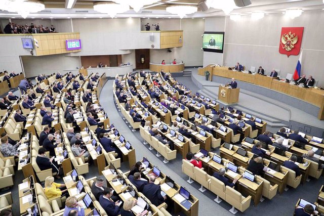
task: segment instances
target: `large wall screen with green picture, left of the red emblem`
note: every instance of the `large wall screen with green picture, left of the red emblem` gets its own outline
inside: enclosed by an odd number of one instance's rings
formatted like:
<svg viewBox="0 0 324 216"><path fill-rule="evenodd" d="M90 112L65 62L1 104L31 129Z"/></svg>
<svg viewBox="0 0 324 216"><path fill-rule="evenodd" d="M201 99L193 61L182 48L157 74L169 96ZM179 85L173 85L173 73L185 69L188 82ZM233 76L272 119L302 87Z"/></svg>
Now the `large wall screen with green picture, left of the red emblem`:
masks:
<svg viewBox="0 0 324 216"><path fill-rule="evenodd" d="M224 32L205 31L203 35L203 50L205 52L223 53Z"/></svg>

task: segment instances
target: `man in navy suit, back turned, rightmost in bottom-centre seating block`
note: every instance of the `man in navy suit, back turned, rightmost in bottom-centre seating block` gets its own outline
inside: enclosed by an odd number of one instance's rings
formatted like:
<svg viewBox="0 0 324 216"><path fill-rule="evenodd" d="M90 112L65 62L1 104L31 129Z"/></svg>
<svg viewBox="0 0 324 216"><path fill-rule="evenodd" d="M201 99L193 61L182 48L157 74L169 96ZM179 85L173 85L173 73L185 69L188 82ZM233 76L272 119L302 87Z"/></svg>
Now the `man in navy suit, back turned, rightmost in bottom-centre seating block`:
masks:
<svg viewBox="0 0 324 216"><path fill-rule="evenodd" d="M161 195L161 187L154 184L155 177L150 176L149 184L144 185L143 194L146 196L153 205L158 206L164 203L164 200L167 199L166 196Z"/></svg>

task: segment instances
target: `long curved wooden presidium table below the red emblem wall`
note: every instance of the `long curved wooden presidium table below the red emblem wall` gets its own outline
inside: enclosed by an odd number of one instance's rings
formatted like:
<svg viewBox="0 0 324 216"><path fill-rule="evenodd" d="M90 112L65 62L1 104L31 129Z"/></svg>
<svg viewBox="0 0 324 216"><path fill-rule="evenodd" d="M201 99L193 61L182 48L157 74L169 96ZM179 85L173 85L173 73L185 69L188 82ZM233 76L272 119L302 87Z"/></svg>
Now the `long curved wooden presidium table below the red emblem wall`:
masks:
<svg viewBox="0 0 324 216"><path fill-rule="evenodd" d="M324 91L315 88L300 88L297 85L287 83L285 81L277 80L276 77L269 77L260 74L252 74L245 72L238 72L229 70L228 67L218 67L210 64L204 68L198 68L198 75L205 75L205 71L211 73L210 80L212 81L213 75L222 76L226 78L235 78L236 80L249 82L259 85L261 87L280 92L316 107L319 107L317 118L324 120ZM225 102L226 103L226 102Z"/></svg>

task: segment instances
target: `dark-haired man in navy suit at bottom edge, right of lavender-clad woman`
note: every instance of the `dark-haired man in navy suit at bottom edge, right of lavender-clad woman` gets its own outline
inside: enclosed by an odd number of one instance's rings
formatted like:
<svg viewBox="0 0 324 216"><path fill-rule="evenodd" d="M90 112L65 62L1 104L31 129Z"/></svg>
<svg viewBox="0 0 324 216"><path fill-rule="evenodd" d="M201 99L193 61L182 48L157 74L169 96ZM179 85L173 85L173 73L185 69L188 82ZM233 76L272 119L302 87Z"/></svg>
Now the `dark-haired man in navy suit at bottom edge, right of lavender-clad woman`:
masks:
<svg viewBox="0 0 324 216"><path fill-rule="evenodd" d="M109 216L117 216L120 214L119 205L120 202L114 202L112 197L112 189L106 188L103 190L103 195L100 195L99 197L99 203L102 206L102 208L107 212Z"/></svg>

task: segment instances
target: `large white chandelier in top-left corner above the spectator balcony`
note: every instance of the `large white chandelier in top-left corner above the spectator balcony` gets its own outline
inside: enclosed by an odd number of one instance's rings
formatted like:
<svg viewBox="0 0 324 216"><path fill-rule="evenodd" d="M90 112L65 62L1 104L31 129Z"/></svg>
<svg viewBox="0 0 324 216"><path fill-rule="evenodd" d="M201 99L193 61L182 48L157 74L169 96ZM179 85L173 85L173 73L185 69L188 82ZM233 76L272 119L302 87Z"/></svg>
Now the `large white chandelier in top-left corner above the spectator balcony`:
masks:
<svg viewBox="0 0 324 216"><path fill-rule="evenodd" d="M2 0L1 2L1 10L16 12L23 18L26 18L30 13L36 13L45 9L43 3L34 0Z"/></svg>

